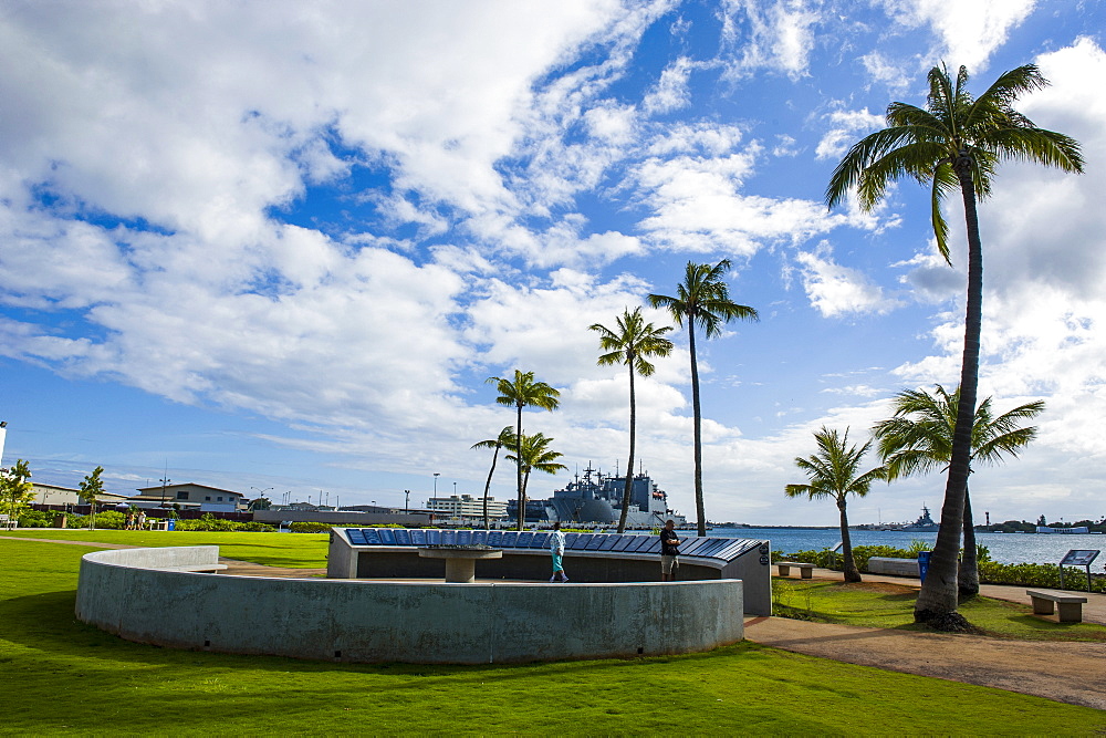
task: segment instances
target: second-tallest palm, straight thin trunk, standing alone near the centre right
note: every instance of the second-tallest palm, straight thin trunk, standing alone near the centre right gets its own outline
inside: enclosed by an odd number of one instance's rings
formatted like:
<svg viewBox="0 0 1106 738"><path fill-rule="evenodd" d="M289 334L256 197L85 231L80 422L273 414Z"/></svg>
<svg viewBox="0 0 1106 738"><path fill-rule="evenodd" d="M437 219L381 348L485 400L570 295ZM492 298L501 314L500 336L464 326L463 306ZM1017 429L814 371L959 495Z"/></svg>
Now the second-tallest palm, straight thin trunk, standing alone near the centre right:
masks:
<svg viewBox="0 0 1106 738"><path fill-rule="evenodd" d="M688 262L684 282L676 285L676 297L650 294L649 304L665 308L676 324L688 329L691 350L691 414L695 424L695 507L699 516L699 534L707 534L707 516L702 507L702 413L699 405L699 362L695 350L695 328L702 329L708 339L721 334L722 325L734 319L758 320L757 311L730 300L730 291L722 276L730 268L730 260L717 264Z"/></svg>

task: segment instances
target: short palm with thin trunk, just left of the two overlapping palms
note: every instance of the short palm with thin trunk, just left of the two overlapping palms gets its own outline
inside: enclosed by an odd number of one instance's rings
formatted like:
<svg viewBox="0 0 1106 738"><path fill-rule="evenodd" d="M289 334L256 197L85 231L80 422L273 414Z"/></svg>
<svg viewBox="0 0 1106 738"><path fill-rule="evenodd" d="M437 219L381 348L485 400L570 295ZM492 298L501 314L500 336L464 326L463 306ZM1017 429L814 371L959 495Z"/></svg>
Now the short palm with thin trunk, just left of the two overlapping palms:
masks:
<svg viewBox="0 0 1106 738"><path fill-rule="evenodd" d="M841 545L842 557L845 560L845 581L859 582L860 572L853 559L853 543L848 538L848 517L845 514L845 505L849 495L864 497L868 493L872 482L886 479L887 469L876 467L864 474L857 474L860 459L868 451L872 441L866 441L860 448L857 448L855 444L848 446L848 428L845 428L845 433L838 436L836 429L830 430L822 426L822 429L814 434L814 440L818 444L817 454L806 458L801 456L795 458L795 466L806 472L811 482L808 485L787 485L784 488L784 493L787 497L806 495L812 500L828 497L837 503L837 510L841 512Z"/></svg>

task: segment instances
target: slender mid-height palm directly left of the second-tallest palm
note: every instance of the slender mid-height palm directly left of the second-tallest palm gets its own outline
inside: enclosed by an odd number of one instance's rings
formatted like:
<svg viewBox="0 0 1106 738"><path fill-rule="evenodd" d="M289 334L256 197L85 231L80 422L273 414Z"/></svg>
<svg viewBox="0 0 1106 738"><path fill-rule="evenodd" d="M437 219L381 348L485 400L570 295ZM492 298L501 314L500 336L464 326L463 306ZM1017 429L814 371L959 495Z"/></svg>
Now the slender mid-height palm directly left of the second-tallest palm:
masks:
<svg viewBox="0 0 1106 738"><path fill-rule="evenodd" d="M672 342L665 337L672 329L668 325L656 328L646 323L641 309L623 311L617 319L616 330L595 323L592 331L599 332L599 349L607 353L596 362L599 366L625 364L629 368L629 461L626 464L626 488L623 491L623 510L618 516L618 532L626 530L626 513L629 510L630 492L634 489L634 449L637 436L637 397L634 391L634 375L650 376L654 366L647 356L667 356L672 352Z"/></svg>

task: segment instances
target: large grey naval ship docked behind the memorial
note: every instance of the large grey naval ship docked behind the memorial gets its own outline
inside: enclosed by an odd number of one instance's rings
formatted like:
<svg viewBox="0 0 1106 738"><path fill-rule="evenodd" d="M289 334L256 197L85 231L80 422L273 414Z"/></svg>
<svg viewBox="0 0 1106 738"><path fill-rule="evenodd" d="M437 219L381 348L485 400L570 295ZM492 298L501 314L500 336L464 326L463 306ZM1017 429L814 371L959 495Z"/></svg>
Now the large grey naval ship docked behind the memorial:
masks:
<svg viewBox="0 0 1106 738"><path fill-rule="evenodd" d="M617 526L625 491L625 475L605 475L588 462L583 477L577 472L564 489L554 490L553 497L528 499L526 522ZM518 520L518 500L508 500L507 505L508 517ZM649 475L634 475L626 527L659 528L666 520L676 521L677 527L687 526L684 516L668 508L668 492L658 489Z"/></svg>

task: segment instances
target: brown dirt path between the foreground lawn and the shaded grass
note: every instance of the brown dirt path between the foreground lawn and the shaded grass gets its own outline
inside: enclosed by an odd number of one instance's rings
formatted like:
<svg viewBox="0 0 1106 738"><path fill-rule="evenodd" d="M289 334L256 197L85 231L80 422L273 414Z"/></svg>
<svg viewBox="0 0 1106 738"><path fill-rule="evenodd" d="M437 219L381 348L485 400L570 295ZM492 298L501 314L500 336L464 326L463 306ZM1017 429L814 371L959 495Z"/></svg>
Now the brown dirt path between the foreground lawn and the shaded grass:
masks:
<svg viewBox="0 0 1106 738"><path fill-rule="evenodd" d="M1106 709L1106 643L1004 641L784 617L747 620L745 637L810 656Z"/></svg>

